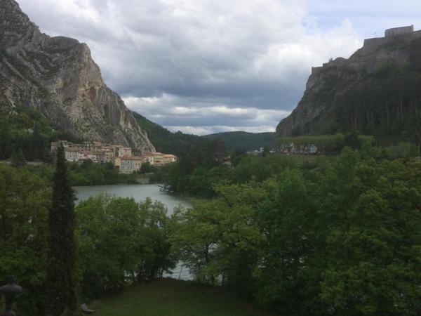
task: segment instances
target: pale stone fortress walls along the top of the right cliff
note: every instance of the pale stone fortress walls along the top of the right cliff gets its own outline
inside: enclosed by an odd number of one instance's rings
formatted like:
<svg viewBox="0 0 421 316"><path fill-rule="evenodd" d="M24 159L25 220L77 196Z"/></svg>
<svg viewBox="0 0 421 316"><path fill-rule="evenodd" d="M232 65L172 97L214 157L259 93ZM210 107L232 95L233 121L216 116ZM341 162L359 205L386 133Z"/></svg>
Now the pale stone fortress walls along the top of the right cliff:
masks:
<svg viewBox="0 0 421 316"><path fill-rule="evenodd" d="M389 56L387 53L375 54L380 46L394 41L396 38L403 40L421 38L421 30L414 31L413 25L387 29L385 31L385 37L365 39L363 47L356 51L349 59L340 57L335 60L331 59L329 62L324 63L321 67L312 67L312 75L316 76L320 74L324 69L326 69L326 67L338 65L348 65L355 70L366 68L369 72L371 72L378 69L378 67L385 65L385 62L388 62L391 58L393 58L396 65L403 65L407 60L406 55L400 56L395 54L394 56Z"/></svg>

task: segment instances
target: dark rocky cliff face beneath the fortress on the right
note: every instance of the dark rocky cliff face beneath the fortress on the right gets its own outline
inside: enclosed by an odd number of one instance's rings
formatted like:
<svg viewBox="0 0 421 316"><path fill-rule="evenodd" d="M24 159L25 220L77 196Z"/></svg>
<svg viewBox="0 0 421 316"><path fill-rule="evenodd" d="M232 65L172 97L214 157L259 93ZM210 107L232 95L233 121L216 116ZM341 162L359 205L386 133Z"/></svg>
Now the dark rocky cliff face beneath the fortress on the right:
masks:
<svg viewBox="0 0 421 316"><path fill-rule="evenodd" d="M338 117L342 96L352 88L361 86L363 80L368 82L368 76L375 76L382 68L403 67L417 62L420 60L420 44L421 31L366 39L363 47L349 59L337 58L323 64L323 67L313 67L304 96L290 116L279 123L276 132L280 136L291 136L340 131L340 124L349 121L345 117ZM364 103L364 100L359 102ZM371 111L367 115L374 116L375 113ZM380 114L377 121L379 119ZM371 121L368 123L371 124ZM349 124L355 125L354 122Z"/></svg>

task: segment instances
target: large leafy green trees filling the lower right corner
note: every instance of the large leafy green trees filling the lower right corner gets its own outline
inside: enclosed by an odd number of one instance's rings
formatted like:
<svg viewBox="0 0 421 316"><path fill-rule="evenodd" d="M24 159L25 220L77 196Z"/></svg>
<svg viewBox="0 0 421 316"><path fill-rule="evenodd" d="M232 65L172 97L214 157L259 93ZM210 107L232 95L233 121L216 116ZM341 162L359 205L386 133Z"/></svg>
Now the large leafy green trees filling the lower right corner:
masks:
<svg viewBox="0 0 421 316"><path fill-rule="evenodd" d="M373 160L352 166L355 180L347 199L353 202L340 208L343 217L326 239L321 283L321 300L336 312L417 315L420 167L419 161Z"/></svg>

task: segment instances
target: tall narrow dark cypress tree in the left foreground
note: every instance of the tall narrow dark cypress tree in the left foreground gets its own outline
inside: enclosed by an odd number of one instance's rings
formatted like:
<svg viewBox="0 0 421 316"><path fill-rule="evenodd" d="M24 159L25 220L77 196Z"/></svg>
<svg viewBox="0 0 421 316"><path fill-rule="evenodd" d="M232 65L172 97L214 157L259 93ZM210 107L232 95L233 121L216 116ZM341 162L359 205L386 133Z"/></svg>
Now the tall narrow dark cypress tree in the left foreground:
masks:
<svg viewBox="0 0 421 316"><path fill-rule="evenodd" d="M76 308L74 285L74 192L69 183L65 150L57 152L53 178L53 203L48 217L47 312L58 316Z"/></svg>

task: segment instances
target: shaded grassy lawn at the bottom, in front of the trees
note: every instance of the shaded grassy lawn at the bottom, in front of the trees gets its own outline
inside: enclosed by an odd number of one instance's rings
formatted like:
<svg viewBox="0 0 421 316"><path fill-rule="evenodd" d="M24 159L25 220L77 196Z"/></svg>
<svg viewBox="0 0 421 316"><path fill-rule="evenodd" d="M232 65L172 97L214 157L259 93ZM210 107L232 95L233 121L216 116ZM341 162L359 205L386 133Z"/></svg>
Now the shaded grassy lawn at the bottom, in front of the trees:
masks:
<svg viewBox="0 0 421 316"><path fill-rule="evenodd" d="M93 308L101 316L260 315L223 289L173 279L135 285L102 298Z"/></svg>

